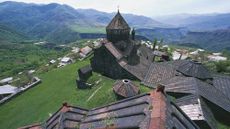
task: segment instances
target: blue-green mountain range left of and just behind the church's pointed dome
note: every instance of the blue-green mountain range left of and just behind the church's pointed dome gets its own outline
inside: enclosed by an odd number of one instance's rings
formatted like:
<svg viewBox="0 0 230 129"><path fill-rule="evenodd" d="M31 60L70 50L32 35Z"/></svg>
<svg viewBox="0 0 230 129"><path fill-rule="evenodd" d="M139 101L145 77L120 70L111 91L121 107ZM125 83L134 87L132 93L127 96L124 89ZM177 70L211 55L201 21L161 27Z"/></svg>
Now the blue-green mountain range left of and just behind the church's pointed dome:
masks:
<svg viewBox="0 0 230 129"><path fill-rule="evenodd" d="M67 43L80 38L80 33L105 33L104 27L114 16L92 9L74 9L60 4L0 3L0 24L13 28L31 39ZM125 14L131 27L166 26L145 16Z"/></svg>

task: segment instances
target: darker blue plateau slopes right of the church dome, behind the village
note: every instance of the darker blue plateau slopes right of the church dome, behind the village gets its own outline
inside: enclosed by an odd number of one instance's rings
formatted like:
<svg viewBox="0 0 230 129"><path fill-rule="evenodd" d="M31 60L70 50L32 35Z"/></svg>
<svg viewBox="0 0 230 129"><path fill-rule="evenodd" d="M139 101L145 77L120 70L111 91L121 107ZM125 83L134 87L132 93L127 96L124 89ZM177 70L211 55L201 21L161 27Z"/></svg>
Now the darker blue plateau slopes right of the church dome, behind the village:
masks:
<svg viewBox="0 0 230 129"><path fill-rule="evenodd" d="M204 48L212 51L230 50L230 28L193 32L186 28L137 29L137 34L150 40L163 39L167 44Z"/></svg>

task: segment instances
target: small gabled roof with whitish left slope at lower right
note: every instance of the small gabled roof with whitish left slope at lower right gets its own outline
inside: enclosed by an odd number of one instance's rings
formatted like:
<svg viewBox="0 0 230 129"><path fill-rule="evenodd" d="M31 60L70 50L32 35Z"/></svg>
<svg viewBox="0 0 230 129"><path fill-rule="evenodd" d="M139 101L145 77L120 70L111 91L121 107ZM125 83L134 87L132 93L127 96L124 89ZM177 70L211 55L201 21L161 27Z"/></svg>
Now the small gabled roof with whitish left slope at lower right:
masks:
<svg viewBox="0 0 230 129"><path fill-rule="evenodd" d="M217 129L216 120L203 99L197 95L188 95L175 102L198 125L204 121L210 129Z"/></svg>

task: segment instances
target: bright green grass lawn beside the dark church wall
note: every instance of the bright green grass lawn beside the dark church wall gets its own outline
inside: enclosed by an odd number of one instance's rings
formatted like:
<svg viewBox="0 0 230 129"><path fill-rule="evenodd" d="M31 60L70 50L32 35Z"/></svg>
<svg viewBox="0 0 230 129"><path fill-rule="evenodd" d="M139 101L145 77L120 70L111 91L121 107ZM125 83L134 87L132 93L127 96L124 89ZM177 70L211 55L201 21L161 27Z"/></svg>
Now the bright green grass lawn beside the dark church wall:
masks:
<svg viewBox="0 0 230 129"><path fill-rule="evenodd" d="M15 129L35 122L44 122L63 102L93 108L116 101L112 91L115 82L97 73L91 80L101 79L92 89L76 88L77 69L89 64L89 59L40 75L42 83L0 106L0 129ZM95 95L88 98L101 87ZM141 87L142 92L149 91Z"/></svg>

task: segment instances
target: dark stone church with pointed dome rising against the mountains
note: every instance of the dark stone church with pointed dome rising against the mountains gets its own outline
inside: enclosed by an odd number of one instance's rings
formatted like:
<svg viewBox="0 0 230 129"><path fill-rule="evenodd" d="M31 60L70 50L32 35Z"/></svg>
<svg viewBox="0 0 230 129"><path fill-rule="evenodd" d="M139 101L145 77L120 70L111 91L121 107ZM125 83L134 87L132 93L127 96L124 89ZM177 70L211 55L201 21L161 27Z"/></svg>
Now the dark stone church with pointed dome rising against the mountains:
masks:
<svg viewBox="0 0 230 129"><path fill-rule="evenodd" d="M131 31L119 10L106 33L107 39L91 59L93 70L113 79L142 80L153 60L152 50L135 40L135 30Z"/></svg>

